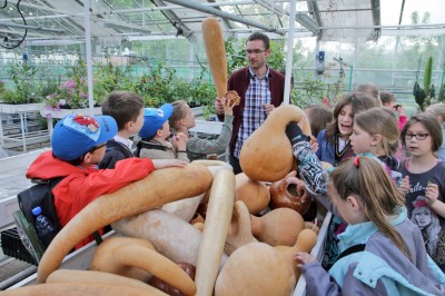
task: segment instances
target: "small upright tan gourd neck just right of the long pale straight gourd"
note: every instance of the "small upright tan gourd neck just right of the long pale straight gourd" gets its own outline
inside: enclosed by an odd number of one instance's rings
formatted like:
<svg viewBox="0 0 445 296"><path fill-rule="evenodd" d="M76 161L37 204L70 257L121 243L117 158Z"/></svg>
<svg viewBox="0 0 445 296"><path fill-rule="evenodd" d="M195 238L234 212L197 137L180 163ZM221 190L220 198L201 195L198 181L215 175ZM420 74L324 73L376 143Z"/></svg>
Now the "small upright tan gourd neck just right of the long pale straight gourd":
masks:
<svg viewBox="0 0 445 296"><path fill-rule="evenodd" d="M251 234L250 214L245 203L237 200L224 251L230 256L240 246L258 241Z"/></svg>

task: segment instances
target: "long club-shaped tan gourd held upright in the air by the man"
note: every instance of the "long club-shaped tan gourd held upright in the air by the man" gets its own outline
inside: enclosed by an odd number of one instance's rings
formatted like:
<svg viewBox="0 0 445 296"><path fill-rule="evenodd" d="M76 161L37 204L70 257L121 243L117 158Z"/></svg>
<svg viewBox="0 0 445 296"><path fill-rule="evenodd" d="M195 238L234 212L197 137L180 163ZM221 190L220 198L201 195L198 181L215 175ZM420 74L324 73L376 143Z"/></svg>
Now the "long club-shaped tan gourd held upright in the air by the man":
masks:
<svg viewBox="0 0 445 296"><path fill-rule="evenodd" d="M207 61L218 98L227 93L227 59L222 30L217 19L206 18L201 24Z"/></svg>

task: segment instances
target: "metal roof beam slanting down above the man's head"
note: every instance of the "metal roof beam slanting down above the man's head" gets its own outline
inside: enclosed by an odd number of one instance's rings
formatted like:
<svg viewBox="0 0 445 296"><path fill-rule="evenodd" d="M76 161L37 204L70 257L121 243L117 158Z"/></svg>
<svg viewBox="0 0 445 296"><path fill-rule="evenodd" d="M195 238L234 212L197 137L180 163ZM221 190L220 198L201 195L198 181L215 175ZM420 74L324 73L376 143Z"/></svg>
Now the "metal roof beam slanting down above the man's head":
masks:
<svg viewBox="0 0 445 296"><path fill-rule="evenodd" d="M191 1L191 0L167 0L166 2L175 3L175 4L178 4L178 6L181 6L181 7L186 7L186 8L198 10L200 12L205 12L205 13L209 13L209 14L212 14L212 16L217 16L217 17L221 17L221 18L225 18L225 19L229 19L229 20L233 20L233 21L237 21L237 22L240 22L240 23L244 23L244 24L247 24L247 26L251 26L251 27L255 27L255 28L258 28L258 29L263 29L263 30L268 31L268 32L275 32L275 33L278 33L278 34L281 34L281 36L285 34L285 32L278 31L275 28L270 28L270 27L264 26L260 22L248 20L248 19L245 19L245 18L240 18L240 17L224 12L221 10L218 10L218 9L215 9L215 8L211 8L211 7L202 6L202 4L197 3L195 1Z"/></svg>

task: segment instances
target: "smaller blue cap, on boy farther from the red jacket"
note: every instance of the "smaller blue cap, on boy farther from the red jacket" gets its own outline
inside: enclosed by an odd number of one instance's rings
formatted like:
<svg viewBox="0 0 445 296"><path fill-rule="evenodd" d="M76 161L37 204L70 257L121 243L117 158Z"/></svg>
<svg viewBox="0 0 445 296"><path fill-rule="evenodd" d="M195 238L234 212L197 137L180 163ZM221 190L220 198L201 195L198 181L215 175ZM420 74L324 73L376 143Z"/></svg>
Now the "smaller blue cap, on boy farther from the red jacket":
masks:
<svg viewBox="0 0 445 296"><path fill-rule="evenodd" d="M139 131L142 139L150 138L160 129L171 114L174 106L171 103L164 103L159 108L145 108L144 109L144 126Z"/></svg>

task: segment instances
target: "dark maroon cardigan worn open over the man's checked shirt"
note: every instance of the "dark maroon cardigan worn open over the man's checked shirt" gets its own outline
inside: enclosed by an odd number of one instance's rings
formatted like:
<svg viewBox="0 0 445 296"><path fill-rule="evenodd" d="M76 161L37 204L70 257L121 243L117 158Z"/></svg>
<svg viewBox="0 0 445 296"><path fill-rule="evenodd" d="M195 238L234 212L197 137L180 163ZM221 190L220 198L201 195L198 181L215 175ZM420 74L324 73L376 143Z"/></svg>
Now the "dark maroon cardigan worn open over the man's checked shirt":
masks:
<svg viewBox="0 0 445 296"><path fill-rule="evenodd" d="M231 132L229 151L234 154L235 144L238 138L239 127L243 122L243 111L246 101L246 91L249 87L250 76L249 68L243 68L231 73L227 90L236 90L240 97L239 106L234 107L234 131ZM275 107L281 105L285 97L285 76L271 68L269 68L269 90L271 103ZM218 115L218 119L224 121L224 114Z"/></svg>

